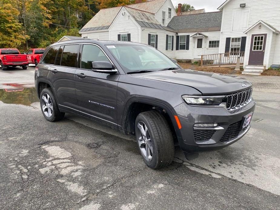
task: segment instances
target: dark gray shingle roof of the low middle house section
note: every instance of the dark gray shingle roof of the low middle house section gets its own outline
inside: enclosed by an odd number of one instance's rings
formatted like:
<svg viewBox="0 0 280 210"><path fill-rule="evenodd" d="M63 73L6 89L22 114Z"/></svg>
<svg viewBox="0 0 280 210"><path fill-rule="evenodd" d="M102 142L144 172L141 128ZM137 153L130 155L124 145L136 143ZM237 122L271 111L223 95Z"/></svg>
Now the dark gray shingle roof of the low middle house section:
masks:
<svg viewBox="0 0 280 210"><path fill-rule="evenodd" d="M177 32L219 31L221 23L222 12L206 12L174 16L168 26Z"/></svg>

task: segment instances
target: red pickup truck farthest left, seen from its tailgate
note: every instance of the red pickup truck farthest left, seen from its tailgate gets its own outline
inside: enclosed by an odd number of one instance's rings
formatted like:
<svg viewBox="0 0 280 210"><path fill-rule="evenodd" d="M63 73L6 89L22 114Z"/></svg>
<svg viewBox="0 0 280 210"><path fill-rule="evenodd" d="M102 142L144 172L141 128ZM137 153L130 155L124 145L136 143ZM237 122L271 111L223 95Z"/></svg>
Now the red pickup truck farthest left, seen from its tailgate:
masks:
<svg viewBox="0 0 280 210"><path fill-rule="evenodd" d="M2 70L7 70L9 66L21 66L23 69L27 69L27 55L20 54L18 49L2 48L0 49L0 65Z"/></svg>

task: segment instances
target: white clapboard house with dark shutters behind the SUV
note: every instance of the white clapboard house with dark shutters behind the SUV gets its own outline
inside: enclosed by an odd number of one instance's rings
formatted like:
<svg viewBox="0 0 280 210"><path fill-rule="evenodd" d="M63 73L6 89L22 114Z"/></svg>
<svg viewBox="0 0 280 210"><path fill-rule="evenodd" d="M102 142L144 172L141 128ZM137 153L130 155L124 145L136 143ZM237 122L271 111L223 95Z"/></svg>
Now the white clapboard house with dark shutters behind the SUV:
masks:
<svg viewBox="0 0 280 210"><path fill-rule="evenodd" d="M212 55L203 59L213 64L221 61L213 59L220 53L230 63L238 55L243 73L259 74L280 64L279 0L226 0L217 12L181 13L181 6L177 14L171 0L101 9L79 33L84 38L149 44L183 61Z"/></svg>

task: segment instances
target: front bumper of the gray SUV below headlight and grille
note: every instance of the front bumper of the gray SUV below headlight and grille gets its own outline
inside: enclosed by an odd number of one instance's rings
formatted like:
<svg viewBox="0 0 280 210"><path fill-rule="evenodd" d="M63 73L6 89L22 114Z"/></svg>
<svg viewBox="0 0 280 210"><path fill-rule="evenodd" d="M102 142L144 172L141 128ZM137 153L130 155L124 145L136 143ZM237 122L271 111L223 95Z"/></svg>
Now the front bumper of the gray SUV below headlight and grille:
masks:
<svg viewBox="0 0 280 210"><path fill-rule="evenodd" d="M255 110L255 101L229 112L223 107L193 107L186 103L174 107L182 128L182 138L178 138L185 152L222 149L241 139L250 125L239 128L243 117ZM218 123L214 128L196 128L195 123Z"/></svg>

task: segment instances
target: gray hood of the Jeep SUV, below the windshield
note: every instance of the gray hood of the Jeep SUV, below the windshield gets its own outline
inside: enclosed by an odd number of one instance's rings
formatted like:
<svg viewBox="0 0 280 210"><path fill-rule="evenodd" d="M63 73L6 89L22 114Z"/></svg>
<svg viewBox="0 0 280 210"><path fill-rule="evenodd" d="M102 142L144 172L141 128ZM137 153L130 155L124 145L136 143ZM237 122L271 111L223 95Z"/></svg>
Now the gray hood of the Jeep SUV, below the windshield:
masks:
<svg viewBox="0 0 280 210"><path fill-rule="evenodd" d="M252 83L241 77L189 69L156 71L133 76L186 85L199 90L203 95L230 94L252 86Z"/></svg>

